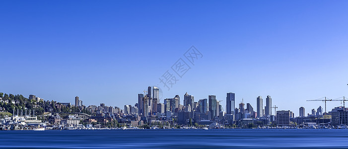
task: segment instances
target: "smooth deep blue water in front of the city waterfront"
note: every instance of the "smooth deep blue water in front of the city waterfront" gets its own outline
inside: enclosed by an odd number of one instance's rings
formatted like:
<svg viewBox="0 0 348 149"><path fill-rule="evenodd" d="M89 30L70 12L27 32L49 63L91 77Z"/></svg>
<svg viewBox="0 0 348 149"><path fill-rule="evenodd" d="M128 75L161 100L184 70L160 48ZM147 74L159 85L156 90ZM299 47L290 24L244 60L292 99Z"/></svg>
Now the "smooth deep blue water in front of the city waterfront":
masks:
<svg viewBox="0 0 348 149"><path fill-rule="evenodd" d="M0 149L348 149L348 130L0 131Z"/></svg>

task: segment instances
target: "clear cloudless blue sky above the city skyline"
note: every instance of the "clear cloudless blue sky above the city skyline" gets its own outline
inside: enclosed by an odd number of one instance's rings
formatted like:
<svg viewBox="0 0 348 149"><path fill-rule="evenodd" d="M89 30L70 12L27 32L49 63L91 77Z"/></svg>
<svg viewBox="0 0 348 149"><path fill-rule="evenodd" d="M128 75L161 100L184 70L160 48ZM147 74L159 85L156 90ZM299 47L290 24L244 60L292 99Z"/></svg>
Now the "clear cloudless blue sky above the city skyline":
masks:
<svg viewBox="0 0 348 149"><path fill-rule="evenodd" d="M236 93L306 113L348 96L348 1L1 1L0 92L134 105L192 45L204 55L163 98ZM161 100L163 102L163 99ZM341 105L328 103L328 109ZM237 104L236 104L237 106ZM225 109L225 108L224 108Z"/></svg>

